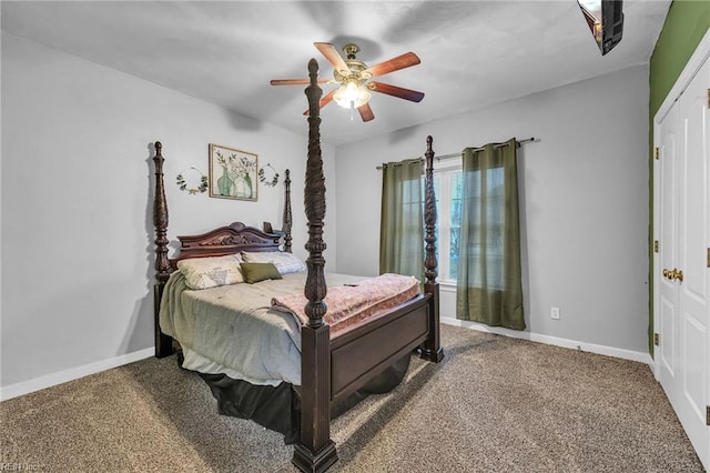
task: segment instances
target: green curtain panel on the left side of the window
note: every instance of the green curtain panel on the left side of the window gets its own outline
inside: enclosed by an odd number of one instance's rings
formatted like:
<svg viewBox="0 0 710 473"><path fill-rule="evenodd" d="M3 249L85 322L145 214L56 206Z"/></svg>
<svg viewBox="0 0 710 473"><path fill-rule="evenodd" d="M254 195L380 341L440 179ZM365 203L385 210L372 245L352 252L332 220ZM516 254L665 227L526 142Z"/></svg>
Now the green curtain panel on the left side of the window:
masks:
<svg viewBox="0 0 710 473"><path fill-rule="evenodd" d="M424 280L422 160L383 164L379 273Z"/></svg>

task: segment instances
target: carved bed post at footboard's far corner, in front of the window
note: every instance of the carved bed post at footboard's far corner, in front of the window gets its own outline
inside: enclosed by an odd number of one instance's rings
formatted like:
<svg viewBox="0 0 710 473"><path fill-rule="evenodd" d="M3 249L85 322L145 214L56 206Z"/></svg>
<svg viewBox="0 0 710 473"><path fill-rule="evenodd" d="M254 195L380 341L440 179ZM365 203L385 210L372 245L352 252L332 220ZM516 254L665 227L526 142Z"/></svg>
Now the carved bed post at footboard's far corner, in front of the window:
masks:
<svg viewBox="0 0 710 473"><path fill-rule="evenodd" d="M422 358L435 363L444 359L439 341L439 283L436 282L436 199L434 195L434 150L432 137L426 137L426 178L424 199L424 223L426 227L426 259L424 260L424 292L432 294L429 303L429 335L424 343Z"/></svg>

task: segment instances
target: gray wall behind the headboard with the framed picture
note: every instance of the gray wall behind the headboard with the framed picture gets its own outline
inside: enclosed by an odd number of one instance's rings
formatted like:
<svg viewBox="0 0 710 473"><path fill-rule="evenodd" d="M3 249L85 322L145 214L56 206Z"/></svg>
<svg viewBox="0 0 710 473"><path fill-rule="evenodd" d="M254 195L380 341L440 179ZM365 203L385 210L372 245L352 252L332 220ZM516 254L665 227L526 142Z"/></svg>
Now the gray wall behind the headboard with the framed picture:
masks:
<svg viewBox="0 0 710 473"><path fill-rule="evenodd" d="M294 252L305 258L305 129L304 120L304 135L291 133L3 32L0 386L40 379L41 388L152 348L155 140L171 244L234 221L282 223L282 185L260 185L257 202L179 190L178 173L206 173L207 144L219 143L257 153L282 175L291 169ZM334 148L323 152L334 182ZM327 220L326 231L335 264Z"/></svg>

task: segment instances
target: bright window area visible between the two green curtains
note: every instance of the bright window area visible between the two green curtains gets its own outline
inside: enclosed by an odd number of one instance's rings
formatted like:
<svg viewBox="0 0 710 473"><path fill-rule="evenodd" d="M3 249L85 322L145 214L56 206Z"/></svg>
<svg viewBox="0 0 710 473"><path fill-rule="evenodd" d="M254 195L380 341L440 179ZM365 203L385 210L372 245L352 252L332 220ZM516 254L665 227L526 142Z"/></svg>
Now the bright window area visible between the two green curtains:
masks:
<svg viewBox="0 0 710 473"><path fill-rule="evenodd" d="M423 181L424 182L424 181ZM454 162L434 171L436 194L436 260L438 280L455 282L462 224L462 165Z"/></svg>

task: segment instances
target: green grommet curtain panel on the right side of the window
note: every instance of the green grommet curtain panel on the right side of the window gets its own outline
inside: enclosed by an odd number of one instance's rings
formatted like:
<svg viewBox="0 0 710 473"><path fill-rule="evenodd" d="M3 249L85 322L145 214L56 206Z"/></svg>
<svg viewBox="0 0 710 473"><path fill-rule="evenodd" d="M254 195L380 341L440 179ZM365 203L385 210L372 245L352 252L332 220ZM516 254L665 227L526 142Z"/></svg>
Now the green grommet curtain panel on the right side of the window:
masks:
<svg viewBox="0 0 710 473"><path fill-rule="evenodd" d="M524 330L517 148L464 150L456 316Z"/></svg>

